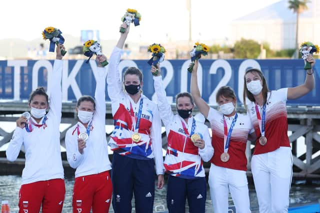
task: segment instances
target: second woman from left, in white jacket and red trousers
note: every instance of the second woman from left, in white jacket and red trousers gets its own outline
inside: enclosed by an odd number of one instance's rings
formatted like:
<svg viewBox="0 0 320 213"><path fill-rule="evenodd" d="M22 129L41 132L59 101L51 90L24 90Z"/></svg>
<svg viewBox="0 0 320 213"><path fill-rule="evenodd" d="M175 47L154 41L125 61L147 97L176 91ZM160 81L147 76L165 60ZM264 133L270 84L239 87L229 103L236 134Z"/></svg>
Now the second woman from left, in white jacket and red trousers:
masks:
<svg viewBox="0 0 320 213"><path fill-rule="evenodd" d="M66 156L75 170L72 196L73 213L107 213L111 204L112 183L105 138L105 78L101 65L104 55L96 56L97 78L94 99L82 96L76 104L78 122L65 134Z"/></svg>

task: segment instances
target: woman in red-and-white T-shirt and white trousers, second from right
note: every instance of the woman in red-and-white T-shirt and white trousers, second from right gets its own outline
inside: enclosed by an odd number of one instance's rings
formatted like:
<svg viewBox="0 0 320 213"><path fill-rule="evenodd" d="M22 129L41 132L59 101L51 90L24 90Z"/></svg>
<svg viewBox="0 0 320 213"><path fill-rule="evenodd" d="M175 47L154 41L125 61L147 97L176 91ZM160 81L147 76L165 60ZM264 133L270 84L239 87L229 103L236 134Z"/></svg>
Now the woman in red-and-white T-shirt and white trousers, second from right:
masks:
<svg viewBox="0 0 320 213"><path fill-rule="evenodd" d="M213 211L228 212L230 191L236 212L250 213L245 156L246 142L253 129L250 118L236 113L236 96L228 86L220 87L216 94L220 112L209 107L200 96L197 67L198 61L195 61L191 74L191 94L195 105L210 122L212 129L214 154L210 160L208 183Z"/></svg>

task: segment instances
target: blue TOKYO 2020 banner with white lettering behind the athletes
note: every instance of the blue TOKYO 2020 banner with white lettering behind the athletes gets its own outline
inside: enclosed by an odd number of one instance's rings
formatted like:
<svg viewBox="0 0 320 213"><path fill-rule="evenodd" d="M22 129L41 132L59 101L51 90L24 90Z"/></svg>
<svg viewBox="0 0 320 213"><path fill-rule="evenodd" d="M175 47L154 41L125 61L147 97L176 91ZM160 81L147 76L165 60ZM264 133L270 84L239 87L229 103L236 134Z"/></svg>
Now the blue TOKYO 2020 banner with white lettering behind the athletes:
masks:
<svg viewBox="0 0 320 213"><path fill-rule="evenodd" d="M64 60L62 73L63 101L76 101L81 95L94 94L96 64L90 60ZM169 101L183 91L189 91L190 74L187 66L190 60L166 60L161 63L161 70ZM53 60L7 60L0 61L0 99L26 100L30 92L38 86L47 87ZM305 80L303 60L200 60L198 79L202 97L209 104L215 105L215 93L220 86L231 86L238 101L242 102L243 74L246 69L260 68L266 77L270 90L283 87L295 87ZM137 66L143 72L143 93L154 99L152 75L146 60L122 60L120 70L128 66ZM307 95L289 100L291 105L320 105L319 79L320 61L314 69L315 88ZM109 101L106 91L106 101Z"/></svg>

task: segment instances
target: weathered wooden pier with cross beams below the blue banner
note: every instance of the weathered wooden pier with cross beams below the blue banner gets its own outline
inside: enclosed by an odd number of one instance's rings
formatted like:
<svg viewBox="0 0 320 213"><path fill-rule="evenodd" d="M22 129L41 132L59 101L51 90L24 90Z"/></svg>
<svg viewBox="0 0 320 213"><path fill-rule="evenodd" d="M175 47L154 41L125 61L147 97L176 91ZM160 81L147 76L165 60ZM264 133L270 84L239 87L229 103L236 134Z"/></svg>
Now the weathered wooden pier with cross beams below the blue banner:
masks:
<svg viewBox="0 0 320 213"><path fill-rule="evenodd" d="M26 102L5 102L0 103L0 121L9 121L15 122L17 117L22 113L28 110L28 106ZM176 113L175 105L172 105L172 110ZM320 150L320 107L287 107L288 111L288 131L292 131L292 135L289 136L289 141L292 146L292 157L293 157L293 172L295 178L320 178L320 155L313 155ZM195 109L196 113L197 110ZM245 110L243 107L238 108L238 112L244 113ZM112 125L112 115L111 115L111 105L110 103L106 103L106 115L105 120L107 125ZM62 119L61 123L66 124L75 124L76 114L75 114L75 103L63 103L62 104ZM209 126L208 122L206 124ZM61 132L60 134L60 144L62 147L65 147L64 137L66 130ZM0 140L0 147L9 142L12 137L13 132L5 132L3 127L0 126L0 136L3 137ZM109 139L109 135L106 133L107 140ZM296 140L300 137L304 137L304 143L306 145L306 152L301 156L296 156L297 146ZM162 147L166 149L166 135L165 132L162 133ZM250 175L250 160L251 155L253 153L253 149L251 148L251 142L247 143L246 156L248 159L248 172ZM254 145L254 144L252 144ZM314 157L313 157L313 156ZM63 166L64 168L68 168L68 164L66 162L65 153L61 153ZM24 166L24 153L23 148L21 149L21 153L19 158L14 163L7 162L5 159L4 153L0 152L0 165L2 169L2 165L7 165L8 167L18 167L20 168ZM6 166L5 166L6 167ZM3 171L0 171L0 173Z"/></svg>

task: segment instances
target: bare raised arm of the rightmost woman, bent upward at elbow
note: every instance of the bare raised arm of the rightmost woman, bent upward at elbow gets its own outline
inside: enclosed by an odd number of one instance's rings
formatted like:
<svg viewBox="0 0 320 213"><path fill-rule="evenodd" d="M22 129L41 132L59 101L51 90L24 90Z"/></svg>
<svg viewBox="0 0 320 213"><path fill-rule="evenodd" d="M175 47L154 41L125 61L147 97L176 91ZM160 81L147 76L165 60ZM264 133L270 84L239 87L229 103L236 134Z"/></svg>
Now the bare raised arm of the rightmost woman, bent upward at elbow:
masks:
<svg viewBox="0 0 320 213"><path fill-rule="evenodd" d="M288 88L287 99L300 98L314 88L313 66L315 60L311 54L308 56L306 60L311 64L311 69L306 70L306 78L304 84L297 87Z"/></svg>

